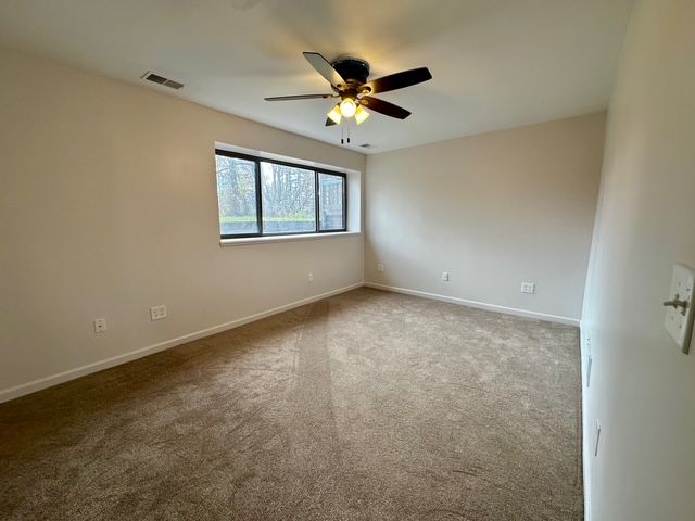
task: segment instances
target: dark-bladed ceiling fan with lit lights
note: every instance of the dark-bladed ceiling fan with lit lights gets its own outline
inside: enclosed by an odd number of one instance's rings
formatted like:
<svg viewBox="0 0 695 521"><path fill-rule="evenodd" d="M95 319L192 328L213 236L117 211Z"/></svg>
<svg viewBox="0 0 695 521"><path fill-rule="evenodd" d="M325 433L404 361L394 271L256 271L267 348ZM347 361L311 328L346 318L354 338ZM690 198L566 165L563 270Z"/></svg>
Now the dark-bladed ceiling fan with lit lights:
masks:
<svg viewBox="0 0 695 521"><path fill-rule="evenodd" d="M367 81L369 77L369 64L357 58L339 58L329 62L318 52L304 52L304 58L312 66L328 80L332 93L328 94L299 94L276 96L265 98L266 101L293 101L293 100L328 100L340 98L338 104L328 113L326 126L338 125L343 117L353 117L357 125L362 124L369 113L365 109L379 112L397 119L405 119L410 115L409 111L374 98L371 94L388 92L389 90L403 89L422 81L432 79L427 67L413 68L401 73L390 74L381 78Z"/></svg>

